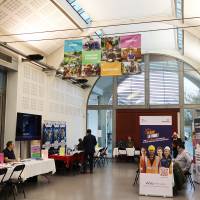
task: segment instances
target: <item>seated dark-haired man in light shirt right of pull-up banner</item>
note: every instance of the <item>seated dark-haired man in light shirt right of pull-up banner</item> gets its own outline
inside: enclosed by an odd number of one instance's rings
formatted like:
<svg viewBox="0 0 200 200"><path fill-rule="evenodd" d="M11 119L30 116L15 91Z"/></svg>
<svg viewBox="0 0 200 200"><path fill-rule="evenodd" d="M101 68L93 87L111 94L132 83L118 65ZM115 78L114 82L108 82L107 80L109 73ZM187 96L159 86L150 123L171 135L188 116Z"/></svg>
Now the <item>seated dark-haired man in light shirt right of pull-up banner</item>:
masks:
<svg viewBox="0 0 200 200"><path fill-rule="evenodd" d="M192 159L189 155L189 153L185 150L185 144L184 142L177 142L177 151L178 155L175 159L175 163L177 163L183 173L187 173L190 170Z"/></svg>

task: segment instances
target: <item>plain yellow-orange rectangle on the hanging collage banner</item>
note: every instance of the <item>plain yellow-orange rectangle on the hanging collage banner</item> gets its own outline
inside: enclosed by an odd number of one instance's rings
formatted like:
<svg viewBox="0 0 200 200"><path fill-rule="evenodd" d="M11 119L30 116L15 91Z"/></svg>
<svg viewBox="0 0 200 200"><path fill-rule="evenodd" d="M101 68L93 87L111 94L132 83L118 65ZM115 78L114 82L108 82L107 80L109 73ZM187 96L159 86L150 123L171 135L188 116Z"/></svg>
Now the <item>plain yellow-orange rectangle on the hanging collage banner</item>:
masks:
<svg viewBox="0 0 200 200"><path fill-rule="evenodd" d="M101 76L119 76L121 74L121 62L101 62Z"/></svg>

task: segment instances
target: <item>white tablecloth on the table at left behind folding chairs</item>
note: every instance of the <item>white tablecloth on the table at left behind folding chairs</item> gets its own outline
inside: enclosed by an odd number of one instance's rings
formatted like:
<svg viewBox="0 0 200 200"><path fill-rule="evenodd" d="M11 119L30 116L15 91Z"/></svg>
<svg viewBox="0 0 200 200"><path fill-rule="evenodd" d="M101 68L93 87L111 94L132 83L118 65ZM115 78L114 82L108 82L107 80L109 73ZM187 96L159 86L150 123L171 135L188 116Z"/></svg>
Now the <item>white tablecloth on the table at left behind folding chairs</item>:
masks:
<svg viewBox="0 0 200 200"><path fill-rule="evenodd" d="M21 175L22 179L25 181L28 178L43 175L47 173L54 174L56 172L55 161L54 159L46 159L46 160L27 160L22 162L25 164L24 171ZM20 163L21 164L21 163ZM16 163L17 165L17 163ZM8 168L4 181L7 181L10 178L11 173L16 165L8 164L5 167Z"/></svg>

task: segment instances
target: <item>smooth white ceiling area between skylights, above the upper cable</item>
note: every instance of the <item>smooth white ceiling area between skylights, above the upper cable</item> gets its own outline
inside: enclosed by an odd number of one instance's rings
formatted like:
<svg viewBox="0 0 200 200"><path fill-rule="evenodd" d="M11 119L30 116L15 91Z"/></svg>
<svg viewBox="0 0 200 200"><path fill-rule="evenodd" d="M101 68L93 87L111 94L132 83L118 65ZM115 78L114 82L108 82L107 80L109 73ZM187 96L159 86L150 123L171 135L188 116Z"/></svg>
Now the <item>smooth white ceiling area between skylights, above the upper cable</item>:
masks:
<svg viewBox="0 0 200 200"><path fill-rule="evenodd" d="M77 1L94 21L172 15L172 0Z"/></svg>

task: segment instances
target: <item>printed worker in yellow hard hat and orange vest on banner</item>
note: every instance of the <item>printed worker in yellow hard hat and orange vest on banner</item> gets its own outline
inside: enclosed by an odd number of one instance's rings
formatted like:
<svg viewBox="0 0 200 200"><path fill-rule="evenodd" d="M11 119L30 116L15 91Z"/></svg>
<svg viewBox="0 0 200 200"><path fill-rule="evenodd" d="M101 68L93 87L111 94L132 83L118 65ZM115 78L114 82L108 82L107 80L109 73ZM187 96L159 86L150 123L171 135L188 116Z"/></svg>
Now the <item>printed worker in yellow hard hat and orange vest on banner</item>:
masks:
<svg viewBox="0 0 200 200"><path fill-rule="evenodd" d="M147 157L146 173L158 174L160 159L158 156L155 155L155 151L156 151L155 146L150 145L148 147L149 155Z"/></svg>

